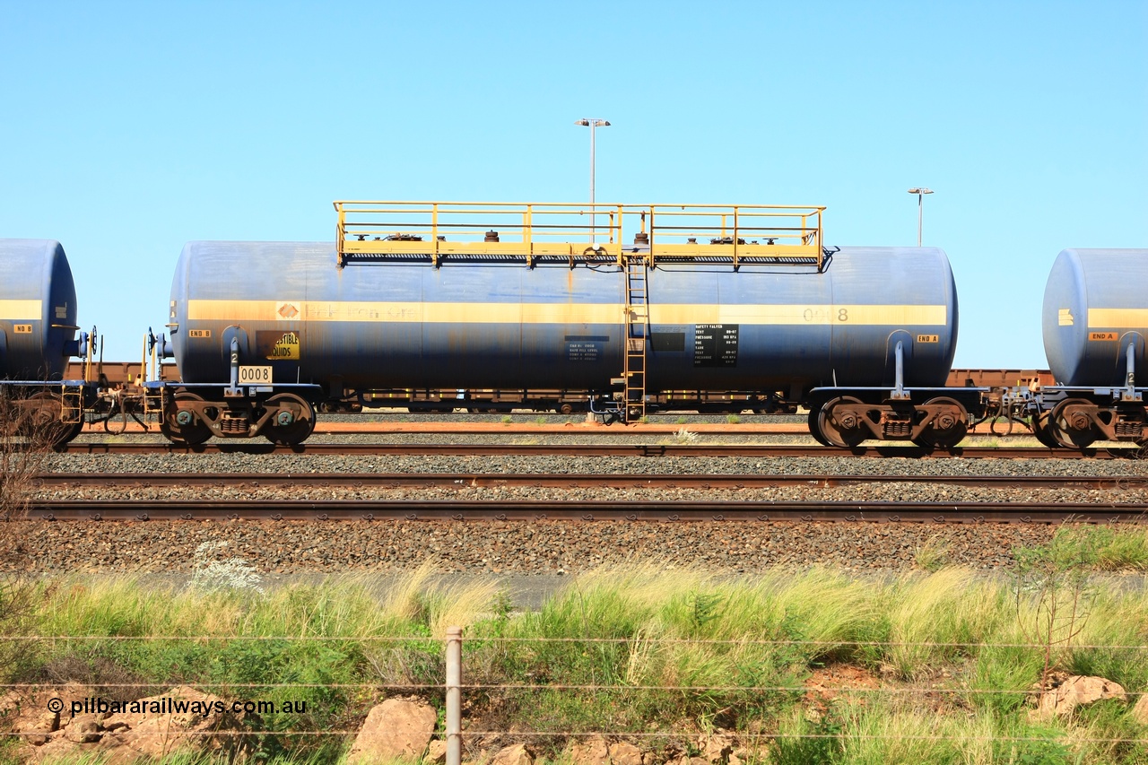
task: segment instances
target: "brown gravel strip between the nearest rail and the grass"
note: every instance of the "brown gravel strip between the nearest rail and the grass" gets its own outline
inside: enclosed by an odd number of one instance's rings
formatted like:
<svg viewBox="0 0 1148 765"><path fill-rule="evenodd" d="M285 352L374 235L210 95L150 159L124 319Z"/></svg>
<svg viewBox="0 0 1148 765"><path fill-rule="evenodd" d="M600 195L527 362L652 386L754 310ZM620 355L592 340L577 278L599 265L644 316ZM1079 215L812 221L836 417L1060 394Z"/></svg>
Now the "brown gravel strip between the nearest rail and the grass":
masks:
<svg viewBox="0 0 1148 765"><path fill-rule="evenodd" d="M1017 546L1046 542L1047 525L848 523L437 523L126 521L17 523L25 562L60 573L191 572L196 548L226 542L226 556L261 572L401 571L424 561L441 573L576 574L656 562L752 573L831 565L903 571L923 556L979 569L1011 563ZM14 564L8 565L9 569Z"/></svg>

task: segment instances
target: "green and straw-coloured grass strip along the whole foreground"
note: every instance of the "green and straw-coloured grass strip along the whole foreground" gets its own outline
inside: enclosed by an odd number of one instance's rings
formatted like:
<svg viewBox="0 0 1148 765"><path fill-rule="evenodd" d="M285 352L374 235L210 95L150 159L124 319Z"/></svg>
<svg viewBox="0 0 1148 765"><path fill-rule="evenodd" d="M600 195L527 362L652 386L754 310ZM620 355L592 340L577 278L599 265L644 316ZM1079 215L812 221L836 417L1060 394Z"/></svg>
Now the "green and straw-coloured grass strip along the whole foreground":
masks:
<svg viewBox="0 0 1148 765"><path fill-rule="evenodd" d="M1089 535L1088 549L1134 550L1124 535L1141 532L1072 533ZM1124 565L1139 559L1122 555ZM544 757L568 743L560 732L641 733L639 744L688 752L722 728L760 744L753 765L1148 764L1143 744L1099 741L1148 737L1131 704L1030 720L1044 651L1017 643L1029 642L1024 625L1039 603L1029 593L1018 601L1007 578L940 567L861 579L815 567L726 579L643 564L582 574L519 612L492 581L444 586L433 571L386 589L364 577L265 593L133 578L41 582L28 633L146 640L46 640L6 681L148 686L123 691L132 697L178 682L246 698L289 693L308 713L269 717L265 729L354 729L381 696L402 693L381 685L426 686L410 693L441 706L443 636L460 625L464 680L483 686L466 691L467 719L540 734L529 740ZM1079 634L1054 651L1055 669L1148 690L1146 651L1119 648L1148 643L1148 593L1103 578L1087 592ZM841 667L868 683L821 701L806 693L814 679L839 683ZM335 762L346 744L272 735L259 758ZM0 749L0 763L10 752Z"/></svg>

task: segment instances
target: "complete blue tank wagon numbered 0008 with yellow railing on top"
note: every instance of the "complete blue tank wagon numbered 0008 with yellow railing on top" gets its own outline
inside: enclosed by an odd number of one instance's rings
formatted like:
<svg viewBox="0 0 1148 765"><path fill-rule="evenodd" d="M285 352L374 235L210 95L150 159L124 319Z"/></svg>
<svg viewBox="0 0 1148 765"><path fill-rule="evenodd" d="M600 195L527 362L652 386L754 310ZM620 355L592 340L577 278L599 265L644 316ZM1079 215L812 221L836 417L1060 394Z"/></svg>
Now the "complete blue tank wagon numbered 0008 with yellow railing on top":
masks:
<svg viewBox="0 0 1148 765"><path fill-rule="evenodd" d="M317 403L391 388L587 389L628 419L661 391L788 391L843 447L952 446L978 407L944 388L945 253L825 248L821 208L336 208L334 245L184 248L169 438L298 442Z"/></svg>

